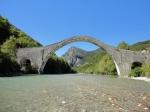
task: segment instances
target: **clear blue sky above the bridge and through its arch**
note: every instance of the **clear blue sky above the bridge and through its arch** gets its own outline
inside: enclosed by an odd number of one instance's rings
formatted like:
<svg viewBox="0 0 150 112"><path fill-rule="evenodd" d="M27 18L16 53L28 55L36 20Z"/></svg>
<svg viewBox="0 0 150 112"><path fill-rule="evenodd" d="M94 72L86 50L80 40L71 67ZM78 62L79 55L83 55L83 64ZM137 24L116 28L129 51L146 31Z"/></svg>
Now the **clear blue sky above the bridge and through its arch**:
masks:
<svg viewBox="0 0 150 112"><path fill-rule="evenodd" d="M88 35L117 46L150 39L150 0L0 0L0 15L43 45ZM76 46L97 47L77 42Z"/></svg>

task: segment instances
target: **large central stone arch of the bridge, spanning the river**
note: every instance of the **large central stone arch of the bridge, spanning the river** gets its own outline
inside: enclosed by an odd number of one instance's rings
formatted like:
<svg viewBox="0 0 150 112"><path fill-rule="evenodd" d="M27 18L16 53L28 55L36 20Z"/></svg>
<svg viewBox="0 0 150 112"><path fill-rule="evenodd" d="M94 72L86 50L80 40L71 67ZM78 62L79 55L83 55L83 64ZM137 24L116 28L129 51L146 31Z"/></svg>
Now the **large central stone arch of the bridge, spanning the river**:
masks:
<svg viewBox="0 0 150 112"><path fill-rule="evenodd" d="M114 57L113 57L113 53L116 51L114 47L112 46L109 46L93 37L89 37L89 36L74 36L74 37L71 37L71 38L68 38L68 39L65 39L63 41L60 41L58 43L55 43L55 44L52 44L52 45L49 45L49 46L45 46L44 47L44 59L43 59L43 62L41 64L41 67L40 67L40 73L43 73L43 70L44 70L44 67L51 55L51 53L54 53L56 52L58 49L62 48L63 46L66 46L70 43L73 43L73 42L79 42L79 41L83 41L83 42L89 42L89 43L92 43L102 49L104 49L113 59L114 61L114 64L116 66L116 69L117 69L117 72L118 72L118 75L120 75L120 70L119 70L119 67L116 63L116 61L114 60Z"/></svg>

